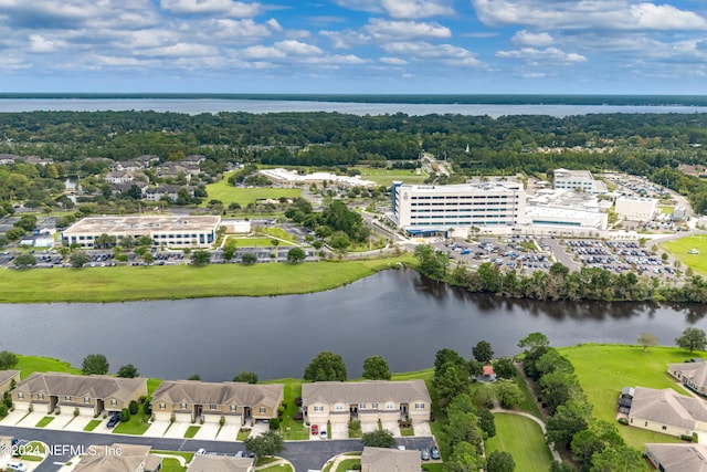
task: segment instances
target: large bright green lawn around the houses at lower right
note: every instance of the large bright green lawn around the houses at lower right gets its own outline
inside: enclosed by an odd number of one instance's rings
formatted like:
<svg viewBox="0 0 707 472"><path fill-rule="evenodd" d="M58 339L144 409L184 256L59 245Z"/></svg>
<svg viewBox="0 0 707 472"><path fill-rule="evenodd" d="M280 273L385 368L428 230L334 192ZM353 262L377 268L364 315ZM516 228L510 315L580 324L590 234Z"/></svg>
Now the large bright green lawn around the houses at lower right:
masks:
<svg viewBox="0 0 707 472"><path fill-rule="evenodd" d="M667 375L667 364L682 363L704 353L689 354L676 347L585 344L558 349L574 366L574 371L592 403L594 417L615 422L616 401L623 387L673 388L686 391ZM618 423L616 423L618 424ZM619 426L619 424L618 424ZM677 438L619 426L626 443L643 449L645 442L678 442Z"/></svg>

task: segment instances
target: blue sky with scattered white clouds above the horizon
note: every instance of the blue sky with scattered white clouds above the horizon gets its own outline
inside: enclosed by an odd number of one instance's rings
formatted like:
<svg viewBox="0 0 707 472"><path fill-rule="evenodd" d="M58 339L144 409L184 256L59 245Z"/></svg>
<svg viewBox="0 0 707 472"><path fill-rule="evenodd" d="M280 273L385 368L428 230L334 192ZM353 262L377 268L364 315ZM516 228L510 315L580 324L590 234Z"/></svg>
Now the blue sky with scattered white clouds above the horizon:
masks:
<svg viewBox="0 0 707 472"><path fill-rule="evenodd" d="M707 94L706 0L0 0L0 92Z"/></svg>

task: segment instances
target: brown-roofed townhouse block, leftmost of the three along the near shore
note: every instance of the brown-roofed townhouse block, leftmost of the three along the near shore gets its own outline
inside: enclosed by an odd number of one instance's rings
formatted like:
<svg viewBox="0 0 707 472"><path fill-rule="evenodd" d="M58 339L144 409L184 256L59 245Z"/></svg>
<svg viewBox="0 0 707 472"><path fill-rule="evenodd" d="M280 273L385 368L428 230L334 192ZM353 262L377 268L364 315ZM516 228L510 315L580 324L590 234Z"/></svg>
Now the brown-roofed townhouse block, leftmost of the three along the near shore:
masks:
<svg viewBox="0 0 707 472"><path fill-rule="evenodd" d="M18 410L48 413L64 410L96 416L120 411L128 408L130 401L146 397L147 379L34 373L20 381L11 396Z"/></svg>

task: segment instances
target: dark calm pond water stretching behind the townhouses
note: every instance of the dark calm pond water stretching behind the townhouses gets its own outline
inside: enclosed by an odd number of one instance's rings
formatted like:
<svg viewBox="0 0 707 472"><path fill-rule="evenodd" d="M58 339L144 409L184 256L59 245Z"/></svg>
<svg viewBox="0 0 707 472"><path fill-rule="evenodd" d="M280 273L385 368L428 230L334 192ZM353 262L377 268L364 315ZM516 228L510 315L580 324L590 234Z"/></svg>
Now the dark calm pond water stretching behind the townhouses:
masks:
<svg viewBox="0 0 707 472"><path fill-rule="evenodd" d="M262 379L300 377L321 350L340 354L349 376L380 354L394 371L430 367L450 347L465 357L482 339L497 355L542 332L552 345L635 343L642 332L672 345L687 326L707 329L705 306L514 302L476 296L387 271L316 294L112 304L0 305L0 349L81 365L105 354L112 371L135 364L141 375L226 380L241 370Z"/></svg>

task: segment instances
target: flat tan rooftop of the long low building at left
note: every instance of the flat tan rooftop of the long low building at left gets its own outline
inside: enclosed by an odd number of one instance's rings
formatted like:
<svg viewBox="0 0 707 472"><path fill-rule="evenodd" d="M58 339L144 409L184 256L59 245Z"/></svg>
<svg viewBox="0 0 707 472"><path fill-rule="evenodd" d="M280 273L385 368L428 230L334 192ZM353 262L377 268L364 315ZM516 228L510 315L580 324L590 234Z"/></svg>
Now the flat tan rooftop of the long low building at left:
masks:
<svg viewBox="0 0 707 472"><path fill-rule="evenodd" d="M64 234L106 233L125 234L138 231L211 231L221 222L219 216L140 216L89 217L64 230Z"/></svg>

